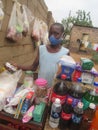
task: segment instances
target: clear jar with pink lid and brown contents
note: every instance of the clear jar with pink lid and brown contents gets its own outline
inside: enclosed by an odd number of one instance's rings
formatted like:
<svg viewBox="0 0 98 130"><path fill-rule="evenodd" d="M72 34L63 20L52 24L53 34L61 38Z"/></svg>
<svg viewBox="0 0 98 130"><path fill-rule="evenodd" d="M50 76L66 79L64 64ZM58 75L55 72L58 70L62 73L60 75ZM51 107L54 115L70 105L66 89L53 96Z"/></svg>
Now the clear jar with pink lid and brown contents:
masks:
<svg viewBox="0 0 98 130"><path fill-rule="evenodd" d="M47 80L43 78L38 78L35 80L36 85L36 97L37 98L45 98L47 95Z"/></svg>

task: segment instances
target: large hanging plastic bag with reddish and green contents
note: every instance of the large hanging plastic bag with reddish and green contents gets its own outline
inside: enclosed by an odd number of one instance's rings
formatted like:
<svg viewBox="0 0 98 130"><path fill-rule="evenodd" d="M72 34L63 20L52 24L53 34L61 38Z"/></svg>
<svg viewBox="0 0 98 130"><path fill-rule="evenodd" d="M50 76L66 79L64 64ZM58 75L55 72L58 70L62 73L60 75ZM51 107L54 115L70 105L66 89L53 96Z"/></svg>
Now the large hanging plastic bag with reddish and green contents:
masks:
<svg viewBox="0 0 98 130"><path fill-rule="evenodd" d="M8 24L6 38L12 41L17 41L19 39L22 39L22 32L23 32L23 22L22 22L21 6L18 2L15 2L13 5L10 21Z"/></svg>

